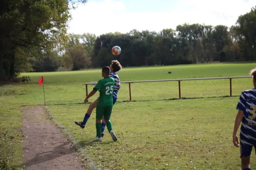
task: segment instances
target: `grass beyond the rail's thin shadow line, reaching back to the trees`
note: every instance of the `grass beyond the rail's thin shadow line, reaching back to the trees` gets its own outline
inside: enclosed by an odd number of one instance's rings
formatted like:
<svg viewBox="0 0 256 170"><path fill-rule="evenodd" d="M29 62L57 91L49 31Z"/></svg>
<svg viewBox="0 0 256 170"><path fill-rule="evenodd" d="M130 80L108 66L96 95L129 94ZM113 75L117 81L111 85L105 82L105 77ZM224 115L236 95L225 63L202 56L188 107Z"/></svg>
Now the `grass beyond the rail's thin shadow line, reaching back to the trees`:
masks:
<svg viewBox="0 0 256 170"><path fill-rule="evenodd" d="M124 68L120 71L119 77L122 81L151 80L151 79L180 79L194 77L229 77L247 76L251 68L256 65L248 64L205 64L205 65L177 65L163 67L141 67ZM168 74L172 71L172 74ZM84 82L95 82L101 79L99 69L87 71L64 71L54 73L25 73L32 79L32 84L22 85L24 96L18 100L23 105L44 104L42 85L37 82L44 76L45 97L47 104L77 104L83 102L85 96ZM34 84L33 84L34 83ZM251 82L248 79L233 79L233 95L240 95L241 91L250 88ZM93 86L88 86L88 91ZM227 96L229 92L229 79L218 80L197 80L181 82L181 97L210 97ZM178 82L148 82L131 84L132 100L161 100L178 98ZM122 84L119 101L129 100L128 84Z"/></svg>

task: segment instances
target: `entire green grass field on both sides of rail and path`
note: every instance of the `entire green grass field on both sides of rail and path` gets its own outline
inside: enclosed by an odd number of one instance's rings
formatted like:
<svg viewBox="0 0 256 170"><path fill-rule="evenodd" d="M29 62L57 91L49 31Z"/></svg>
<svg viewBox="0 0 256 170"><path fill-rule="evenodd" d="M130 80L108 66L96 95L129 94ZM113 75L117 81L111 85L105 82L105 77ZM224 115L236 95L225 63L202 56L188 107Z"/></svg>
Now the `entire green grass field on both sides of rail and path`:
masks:
<svg viewBox="0 0 256 170"><path fill-rule="evenodd" d="M124 68L119 77L132 81L248 76L254 67L253 63L232 63ZM187 100L168 100L178 98L177 82L133 83L132 100L137 102L122 102L129 100L129 94L128 85L121 84L111 118L119 142L111 142L106 135L104 142L90 143L96 135L95 112L83 130L73 121L81 120L87 110L78 105L85 97L84 82L100 79L100 70L22 75L29 75L32 81L0 87L0 157L12 167L21 164L20 107L44 104L42 86L37 84L43 75L46 102L53 115L105 169L239 169L239 149L233 147L232 130L237 96L252 88L251 79L233 79L236 97L229 98L218 97L229 95L228 79L184 81L181 97L203 97ZM89 91L92 88L89 86Z"/></svg>

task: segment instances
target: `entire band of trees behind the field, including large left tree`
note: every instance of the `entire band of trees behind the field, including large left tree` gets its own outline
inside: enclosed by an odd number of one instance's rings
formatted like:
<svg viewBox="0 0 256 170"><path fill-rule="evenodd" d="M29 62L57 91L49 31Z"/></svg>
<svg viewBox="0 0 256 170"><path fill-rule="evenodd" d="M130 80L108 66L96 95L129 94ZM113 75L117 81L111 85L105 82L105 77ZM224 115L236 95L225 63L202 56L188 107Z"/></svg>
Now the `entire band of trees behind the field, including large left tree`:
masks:
<svg viewBox="0 0 256 170"><path fill-rule="evenodd" d="M124 67L256 60L256 7L239 16L230 28L184 23L176 30L134 29L97 37L90 33L67 34L71 17L68 4L77 3L72 0L3 2L0 80L13 79L24 71L98 68L113 59ZM119 56L111 53L115 45L122 49Z"/></svg>

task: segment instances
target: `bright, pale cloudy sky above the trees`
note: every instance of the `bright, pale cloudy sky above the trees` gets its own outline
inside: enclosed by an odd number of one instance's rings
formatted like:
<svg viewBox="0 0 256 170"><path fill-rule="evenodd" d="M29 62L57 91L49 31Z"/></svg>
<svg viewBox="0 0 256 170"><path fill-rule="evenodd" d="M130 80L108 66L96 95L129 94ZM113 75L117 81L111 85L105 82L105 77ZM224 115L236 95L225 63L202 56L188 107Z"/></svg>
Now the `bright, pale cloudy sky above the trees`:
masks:
<svg viewBox="0 0 256 170"><path fill-rule="evenodd" d="M88 0L71 10L68 33L158 32L183 23L232 26L253 6L256 0Z"/></svg>

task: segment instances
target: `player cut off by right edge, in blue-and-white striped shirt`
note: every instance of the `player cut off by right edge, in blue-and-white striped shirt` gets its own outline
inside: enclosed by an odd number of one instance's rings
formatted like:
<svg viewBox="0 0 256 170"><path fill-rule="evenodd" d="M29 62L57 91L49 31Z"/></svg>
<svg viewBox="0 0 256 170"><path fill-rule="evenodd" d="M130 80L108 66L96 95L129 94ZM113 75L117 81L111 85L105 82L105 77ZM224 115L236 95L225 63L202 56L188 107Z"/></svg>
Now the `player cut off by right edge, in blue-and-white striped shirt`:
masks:
<svg viewBox="0 0 256 170"><path fill-rule="evenodd" d="M256 68L250 72L250 75L253 77L254 88L241 93L236 107L238 113L233 131L233 143L239 147L236 133L241 123L240 158L242 170L251 170L250 155L252 148L256 147Z"/></svg>

